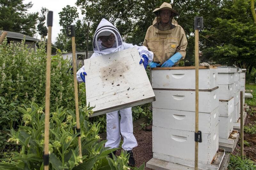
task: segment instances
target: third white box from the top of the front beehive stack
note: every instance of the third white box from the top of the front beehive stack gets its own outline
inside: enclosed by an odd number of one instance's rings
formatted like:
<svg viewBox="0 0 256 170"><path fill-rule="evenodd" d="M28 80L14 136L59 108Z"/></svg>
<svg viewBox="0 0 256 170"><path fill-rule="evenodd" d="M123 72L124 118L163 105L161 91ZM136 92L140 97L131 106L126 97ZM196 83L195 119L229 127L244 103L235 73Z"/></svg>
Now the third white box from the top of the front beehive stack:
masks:
<svg viewBox="0 0 256 170"><path fill-rule="evenodd" d="M212 133L219 123L219 108L211 113L199 112L199 130L202 133ZM153 108L153 126L195 131L195 112Z"/></svg>

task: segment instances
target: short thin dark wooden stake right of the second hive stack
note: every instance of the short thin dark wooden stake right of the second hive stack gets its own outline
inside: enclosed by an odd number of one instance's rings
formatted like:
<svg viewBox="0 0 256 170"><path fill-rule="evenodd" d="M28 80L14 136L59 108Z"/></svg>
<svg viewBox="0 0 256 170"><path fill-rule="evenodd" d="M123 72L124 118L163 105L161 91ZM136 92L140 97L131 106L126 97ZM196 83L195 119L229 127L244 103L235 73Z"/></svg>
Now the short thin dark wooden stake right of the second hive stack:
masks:
<svg viewBox="0 0 256 170"><path fill-rule="evenodd" d="M244 157L244 105L243 105L243 91L240 91L240 155Z"/></svg>

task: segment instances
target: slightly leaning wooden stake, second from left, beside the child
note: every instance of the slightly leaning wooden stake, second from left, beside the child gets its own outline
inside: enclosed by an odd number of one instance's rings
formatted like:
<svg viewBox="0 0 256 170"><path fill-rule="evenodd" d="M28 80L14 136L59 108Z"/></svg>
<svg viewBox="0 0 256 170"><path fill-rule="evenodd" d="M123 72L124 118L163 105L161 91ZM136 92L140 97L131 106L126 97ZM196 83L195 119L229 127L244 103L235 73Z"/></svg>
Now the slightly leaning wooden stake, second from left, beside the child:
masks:
<svg viewBox="0 0 256 170"><path fill-rule="evenodd" d="M73 76L74 76L74 91L75 91L75 106L76 106L76 129L80 131L80 119L79 119L79 108L78 108L78 90L77 90L77 80L76 80L76 41L75 41L75 26L70 26L71 42L72 42L72 58L73 58ZM81 145L81 135L78 136L78 147L79 156L82 157L82 145ZM82 163L82 161L81 161Z"/></svg>

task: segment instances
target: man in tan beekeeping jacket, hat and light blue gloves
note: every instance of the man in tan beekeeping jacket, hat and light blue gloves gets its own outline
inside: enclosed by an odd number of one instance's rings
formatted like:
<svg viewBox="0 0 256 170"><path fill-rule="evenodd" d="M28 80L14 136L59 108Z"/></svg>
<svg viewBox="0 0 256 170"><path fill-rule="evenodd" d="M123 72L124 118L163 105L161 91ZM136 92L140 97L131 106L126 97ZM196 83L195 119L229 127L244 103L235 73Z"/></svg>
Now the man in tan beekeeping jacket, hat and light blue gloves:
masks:
<svg viewBox="0 0 256 170"><path fill-rule="evenodd" d="M153 25L148 27L143 46L154 53L153 61L149 63L154 67L177 66L180 59L184 59L187 48L187 38L183 28L173 18L178 12L172 5L164 2L153 13L156 18Z"/></svg>

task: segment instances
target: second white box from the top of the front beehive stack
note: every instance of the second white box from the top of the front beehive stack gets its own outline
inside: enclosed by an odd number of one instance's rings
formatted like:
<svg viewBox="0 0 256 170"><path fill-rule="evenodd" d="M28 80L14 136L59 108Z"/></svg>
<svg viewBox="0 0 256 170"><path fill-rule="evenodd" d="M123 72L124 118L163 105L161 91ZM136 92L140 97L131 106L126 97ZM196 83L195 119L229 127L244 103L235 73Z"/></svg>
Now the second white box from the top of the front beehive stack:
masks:
<svg viewBox="0 0 256 170"><path fill-rule="evenodd" d="M199 112L211 113L219 106L219 89L199 91ZM152 107L195 112L195 91L154 90L156 101Z"/></svg>

